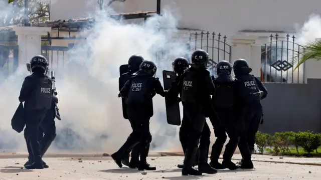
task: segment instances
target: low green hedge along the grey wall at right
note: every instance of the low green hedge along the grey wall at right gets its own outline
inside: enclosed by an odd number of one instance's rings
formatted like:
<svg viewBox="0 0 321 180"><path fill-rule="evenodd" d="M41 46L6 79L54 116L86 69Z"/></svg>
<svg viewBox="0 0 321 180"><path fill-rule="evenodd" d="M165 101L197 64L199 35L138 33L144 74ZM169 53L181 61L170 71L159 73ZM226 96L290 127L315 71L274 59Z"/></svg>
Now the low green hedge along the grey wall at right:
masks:
<svg viewBox="0 0 321 180"><path fill-rule="evenodd" d="M273 136L267 133L256 133L256 145L261 154L268 150L273 154L285 155L290 152L290 146L295 146L297 155L300 155L299 149L302 148L304 152L310 154L317 152L317 148L321 146L321 134L313 133L311 131L299 132L276 132Z"/></svg>

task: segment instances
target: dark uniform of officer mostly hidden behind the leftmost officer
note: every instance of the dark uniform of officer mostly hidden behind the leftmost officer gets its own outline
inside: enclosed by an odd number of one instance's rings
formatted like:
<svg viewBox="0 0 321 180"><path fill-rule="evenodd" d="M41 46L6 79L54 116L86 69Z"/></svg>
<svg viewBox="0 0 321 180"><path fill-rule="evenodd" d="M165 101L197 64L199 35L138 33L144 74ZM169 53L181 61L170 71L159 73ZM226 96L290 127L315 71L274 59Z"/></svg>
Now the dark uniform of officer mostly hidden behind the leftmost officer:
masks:
<svg viewBox="0 0 321 180"><path fill-rule="evenodd" d="M40 123L39 129L38 129L38 141L40 143L40 151L41 156L43 157L44 154L47 152L48 148L50 147L51 143L56 138L56 122L55 122L55 111L56 111L56 104L58 103L58 98L56 96L52 97L52 104L51 108L47 111L46 116L44 120ZM34 157L32 154L31 146L28 143L27 138L27 131L25 129L24 132L25 140L27 142L27 149L28 149L28 161L24 164L24 166L28 164L32 164ZM43 161L44 167L48 168L49 166L46 164L46 162Z"/></svg>

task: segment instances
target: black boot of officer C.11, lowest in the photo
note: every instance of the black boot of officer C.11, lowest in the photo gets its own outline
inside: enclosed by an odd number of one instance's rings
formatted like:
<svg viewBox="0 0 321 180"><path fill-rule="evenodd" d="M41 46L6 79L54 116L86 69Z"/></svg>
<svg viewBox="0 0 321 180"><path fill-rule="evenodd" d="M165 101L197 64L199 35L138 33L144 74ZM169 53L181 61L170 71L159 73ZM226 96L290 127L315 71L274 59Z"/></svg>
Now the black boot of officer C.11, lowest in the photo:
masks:
<svg viewBox="0 0 321 180"><path fill-rule="evenodd" d="M202 175L202 172L198 171L192 166L195 160L195 154L197 147L193 149L186 149L185 158L184 158L184 167L182 169L182 175Z"/></svg>

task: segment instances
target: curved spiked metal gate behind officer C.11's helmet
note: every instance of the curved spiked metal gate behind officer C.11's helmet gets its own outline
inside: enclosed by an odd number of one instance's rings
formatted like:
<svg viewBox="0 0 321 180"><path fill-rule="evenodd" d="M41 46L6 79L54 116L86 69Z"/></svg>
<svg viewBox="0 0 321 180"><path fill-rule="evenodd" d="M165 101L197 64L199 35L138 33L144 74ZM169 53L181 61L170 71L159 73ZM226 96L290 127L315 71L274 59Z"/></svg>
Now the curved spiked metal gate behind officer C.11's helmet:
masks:
<svg viewBox="0 0 321 180"><path fill-rule="evenodd" d="M189 57L191 53L198 49L203 49L209 53L208 69L216 76L216 64L220 61L228 61L231 63L231 46L226 43L226 36L215 32L201 32L190 34L189 42L186 44Z"/></svg>

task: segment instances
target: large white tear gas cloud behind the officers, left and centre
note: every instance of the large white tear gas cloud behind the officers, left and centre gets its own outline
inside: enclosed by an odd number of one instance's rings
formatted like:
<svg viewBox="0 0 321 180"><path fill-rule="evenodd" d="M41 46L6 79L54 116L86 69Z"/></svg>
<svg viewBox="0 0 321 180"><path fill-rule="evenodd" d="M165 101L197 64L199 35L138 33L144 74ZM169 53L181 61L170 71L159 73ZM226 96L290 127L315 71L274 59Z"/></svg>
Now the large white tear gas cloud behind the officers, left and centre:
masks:
<svg viewBox="0 0 321 180"><path fill-rule="evenodd" d="M114 151L131 133L130 123L122 117L121 100L117 98L119 66L139 54L157 65L157 74L163 83L162 71L172 69L172 61L186 53L185 42L175 38L177 20L165 11L162 17L153 17L145 24L133 25L97 14L95 25L84 30L87 40L68 52L68 62L56 71L61 121L56 121L55 149L75 151ZM161 27L159 29L159 27ZM30 45L32 46L32 45ZM164 56L156 56L158 52ZM54 60L55 61L55 60ZM11 130L10 119L18 107L18 96L23 78L28 75L26 65L1 85L0 114L2 114L0 148L26 151L22 134ZM150 119L152 147L159 150L181 150L178 127L168 125L165 100L159 95L153 99L154 115Z"/></svg>

